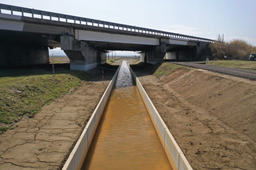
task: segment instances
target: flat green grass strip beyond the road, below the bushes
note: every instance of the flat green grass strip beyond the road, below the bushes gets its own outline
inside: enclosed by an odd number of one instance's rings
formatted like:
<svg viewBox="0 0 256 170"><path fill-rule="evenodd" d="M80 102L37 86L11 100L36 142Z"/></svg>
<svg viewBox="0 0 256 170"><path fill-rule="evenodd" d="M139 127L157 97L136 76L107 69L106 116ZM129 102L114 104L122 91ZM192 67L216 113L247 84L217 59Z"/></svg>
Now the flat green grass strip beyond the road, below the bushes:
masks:
<svg viewBox="0 0 256 170"><path fill-rule="evenodd" d="M256 71L255 61L239 61L239 60L212 60L206 63L208 65L219 65L222 67L242 68L246 70Z"/></svg>

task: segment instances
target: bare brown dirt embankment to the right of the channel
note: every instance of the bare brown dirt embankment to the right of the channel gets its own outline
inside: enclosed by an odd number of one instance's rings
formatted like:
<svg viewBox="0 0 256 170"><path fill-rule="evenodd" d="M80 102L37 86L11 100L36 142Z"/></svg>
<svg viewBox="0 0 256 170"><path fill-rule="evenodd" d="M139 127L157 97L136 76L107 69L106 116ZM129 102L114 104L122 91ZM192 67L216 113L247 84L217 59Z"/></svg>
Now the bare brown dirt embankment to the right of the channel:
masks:
<svg viewBox="0 0 256 170"><path fill-rule="evenodd" d="M255 170L256 82L186 67L160 72L136 74L193 169Z"/></svg>

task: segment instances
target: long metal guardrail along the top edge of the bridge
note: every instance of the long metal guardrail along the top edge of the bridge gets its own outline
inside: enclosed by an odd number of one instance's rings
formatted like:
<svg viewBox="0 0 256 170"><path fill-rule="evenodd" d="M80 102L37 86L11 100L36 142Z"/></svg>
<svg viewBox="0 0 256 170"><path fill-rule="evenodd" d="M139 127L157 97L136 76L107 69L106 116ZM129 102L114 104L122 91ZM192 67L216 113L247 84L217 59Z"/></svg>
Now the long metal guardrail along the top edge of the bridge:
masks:
<svg viewBox="0 0 256 170"><path fill-rule="evenodd" d="M72 16L72 15L59 14L59 13L55 13L55 12L41 11L38 9L23 8L23 7L19 7L19 6L12 6L12 5L6 5L6 4L0 3L0 13L3 13L2 10L7 10L7 12L9 11L10 14L13 14L14 11L20 12L21 16L24 16L24 13L31 14L31 17L33 17L33 18L41 17L41 19L47 19L47 18L44 18L44 16L46 16L46 17L49 17L48 20L56 20L56 21L62 21L62 22L68 22L68 23L71 23L71 22L69 22L69 20L72 20L73 23L78 22L79 24L90 25L90 26L113 28L113 29L118 29L118 30L120 30L120 28L121 28L121 30L140 32L140 33L144 33L144 34L154 34L154 35L159 35L159 36L175 37L175 38L180 38L180 39L185 39L185 40L215 42L215 40L211 40L211 39L207 39L207 38L194 37L194 36L189 36L189 35L184 35L184 34L176 34L176 33L167 32L167 31L137 27L137 26L129 26L129 25L125 25L125 24L112 23L112 22L107 22L107 21L102 21L102 20L94 20L94 19L84 18L84 17L76 17L76 16ZM35 15L38 15L39 17L36 17ZM26 17L29 17L29 16L26 16ZM61 19L64 19L64 21Z"/></svg>

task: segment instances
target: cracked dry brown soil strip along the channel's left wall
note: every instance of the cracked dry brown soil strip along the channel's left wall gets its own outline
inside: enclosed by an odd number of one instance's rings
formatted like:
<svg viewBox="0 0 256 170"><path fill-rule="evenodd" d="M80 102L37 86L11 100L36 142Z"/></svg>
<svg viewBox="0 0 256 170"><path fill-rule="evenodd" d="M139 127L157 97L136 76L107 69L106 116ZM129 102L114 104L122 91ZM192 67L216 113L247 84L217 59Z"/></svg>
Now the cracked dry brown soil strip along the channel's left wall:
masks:
<svg viewBox="0 0 256 170"><path fill-rule="evenodd" d="M102 74L92 75L72 94L0 135L0 170L61 169L113 74L105 71L104 86Z"/></svg>

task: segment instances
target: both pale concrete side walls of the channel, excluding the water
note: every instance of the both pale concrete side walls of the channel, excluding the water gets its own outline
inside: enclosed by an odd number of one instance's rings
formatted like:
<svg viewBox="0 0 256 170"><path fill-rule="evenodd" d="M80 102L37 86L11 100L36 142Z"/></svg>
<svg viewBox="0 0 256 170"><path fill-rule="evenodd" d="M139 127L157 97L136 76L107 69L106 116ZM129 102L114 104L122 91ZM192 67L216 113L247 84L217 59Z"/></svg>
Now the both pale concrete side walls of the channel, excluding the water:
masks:
<svg viewBox="0 0 256 170"><path fill-rule="evenodd" d="M79 140L77 141L75 147L70 153L70 156L68 157L62 170L80 170L81 169L84 159L89 150L89 147L93 141L93 136L95 135L96 129L99 125L105 106L108 102L109 96L111 95L111 91L114 87L116 77L119 72L121 64L122 62L120 63L119 68L114 74L101 100L99 101L99 104L97 105L92 116L90 117L90 120L88 121L86 127L84 128L81 136L79 137ZM165 123L163 122L162 118L160 117L153 103L149 99L142 85L140 84L140 81L137 79L136 75L130 68L129 64L128 64L128 68L131 72L133 79L136 82L136 86L139 91L138 93L140 93L143 99L143 102L145 104L146 109L148 110L153 126L155 127L157 135L164 148L163 154L164 152L166 153L166 156L169 159L170 164L172 165L172 169L173 170L192 170L191 166L189 165L189 162L186 160L184 154L182 153L179 146L175 142L175 139L172 137L172 134L169 132L169 129L166 127Z"/></svg>

